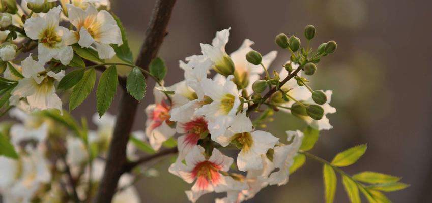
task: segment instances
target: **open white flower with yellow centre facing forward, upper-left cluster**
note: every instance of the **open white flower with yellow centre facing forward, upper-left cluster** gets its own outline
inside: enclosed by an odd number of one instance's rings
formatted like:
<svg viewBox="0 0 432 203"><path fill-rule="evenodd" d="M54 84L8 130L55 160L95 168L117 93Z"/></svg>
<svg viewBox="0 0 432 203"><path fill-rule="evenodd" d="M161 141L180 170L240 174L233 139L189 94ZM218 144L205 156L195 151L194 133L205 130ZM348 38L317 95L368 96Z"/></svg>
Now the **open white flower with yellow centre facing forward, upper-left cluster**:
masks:
<svg viewBox="0 0 432 203"><path fill-rule="evenodd" d="M60 8L54 7L44 16L31 17L24 24L27 36L39 40L38 59L44 64L52 58L68 65L73 58L73 49L68 46L76 39L69 29L59 26Z"/></svg>

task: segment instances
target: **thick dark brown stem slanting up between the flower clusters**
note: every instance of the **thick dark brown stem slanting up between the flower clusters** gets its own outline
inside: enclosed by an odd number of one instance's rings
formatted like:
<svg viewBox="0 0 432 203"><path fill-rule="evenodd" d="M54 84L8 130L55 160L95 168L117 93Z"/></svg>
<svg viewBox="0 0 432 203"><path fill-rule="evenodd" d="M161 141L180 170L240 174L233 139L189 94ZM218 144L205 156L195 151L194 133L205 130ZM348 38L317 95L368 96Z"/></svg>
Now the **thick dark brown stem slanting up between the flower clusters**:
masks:
<svg viewBox="0 0 432 203"><path fill-rule="evenodd" d="M147 26L146 38L136 60L136 65L148 70L150 61L158 53L162 44L165 29L171 16L172 8L176 0L157 0L153 9L152 18ZM106 158L106 166L102 180L99 184L95 203L111 202L116 192L117 183L124 173L124 167L128 164L126 158L126 146L135 119L138 101L123 91L119 104L116 126L112 135L111 144Z"/></svg>

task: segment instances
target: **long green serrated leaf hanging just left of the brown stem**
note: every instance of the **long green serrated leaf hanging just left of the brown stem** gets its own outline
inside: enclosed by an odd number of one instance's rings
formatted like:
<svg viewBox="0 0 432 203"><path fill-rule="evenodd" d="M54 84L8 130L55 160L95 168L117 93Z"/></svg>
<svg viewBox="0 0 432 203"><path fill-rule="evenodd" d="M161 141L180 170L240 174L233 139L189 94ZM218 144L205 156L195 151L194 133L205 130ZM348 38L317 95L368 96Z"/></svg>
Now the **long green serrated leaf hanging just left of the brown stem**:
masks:
<svg viewBox="0 0 432 203"><path fill-rule="evenodd" d="M117 77L116 66L111 65L102 73L99 79L98 89L96 90L97 109L100 117L105 114L106 110L111 105L112 99L117 91L118 83L119 78Z"/></svg>

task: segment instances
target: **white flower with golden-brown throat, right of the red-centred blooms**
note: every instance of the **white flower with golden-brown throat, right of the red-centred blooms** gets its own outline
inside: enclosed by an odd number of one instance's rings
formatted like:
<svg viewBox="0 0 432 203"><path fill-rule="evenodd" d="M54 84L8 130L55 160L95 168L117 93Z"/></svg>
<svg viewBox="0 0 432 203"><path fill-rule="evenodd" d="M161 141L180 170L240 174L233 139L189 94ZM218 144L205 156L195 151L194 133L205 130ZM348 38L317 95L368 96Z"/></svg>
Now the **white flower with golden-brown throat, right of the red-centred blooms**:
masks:
<svg viewBox="0 0 432 203"><path fill-rule="evenodd" d="M263 168L261 156L265 156L267 151L274 147L279 141L269 132L256 130L253 131L253 125L246 116L246 111L237 114L233 125L220 136L213 136L212 139L223 147L229 143L235 143L241 148L237 156L237 166L240 171L259 170Z"/></svg>

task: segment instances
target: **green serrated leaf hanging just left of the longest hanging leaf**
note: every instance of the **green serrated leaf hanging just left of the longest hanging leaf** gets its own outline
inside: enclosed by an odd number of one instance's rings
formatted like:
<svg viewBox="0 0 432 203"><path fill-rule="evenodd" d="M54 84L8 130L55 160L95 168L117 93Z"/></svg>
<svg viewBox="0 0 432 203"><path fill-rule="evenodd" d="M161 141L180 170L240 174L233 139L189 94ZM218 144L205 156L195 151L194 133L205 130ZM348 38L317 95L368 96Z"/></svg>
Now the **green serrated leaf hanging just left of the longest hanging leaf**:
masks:
<svg viewBox="0 0 432 203"><path fill-rule="evenodd" d="M69 98L69 111L79 106L82 101L90 94L95 86L96 72L95 69L89 69L84 72L84 76L72 89L71 97Z"/></svg>

